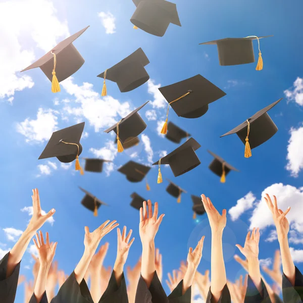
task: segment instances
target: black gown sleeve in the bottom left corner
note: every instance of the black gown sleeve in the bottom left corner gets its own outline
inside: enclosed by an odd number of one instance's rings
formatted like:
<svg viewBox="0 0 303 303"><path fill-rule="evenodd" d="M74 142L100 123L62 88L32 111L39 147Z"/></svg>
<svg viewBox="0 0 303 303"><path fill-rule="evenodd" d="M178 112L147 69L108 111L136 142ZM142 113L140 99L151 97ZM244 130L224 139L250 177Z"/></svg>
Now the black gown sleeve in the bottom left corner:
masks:
<svg viewBox="0 0 303 303"><path fill-rule="evenodd" d="M0 302L13 303L15 301L16 290L18 285L20 263L10 277L6 278L9 252L0 261Z"/></svg>

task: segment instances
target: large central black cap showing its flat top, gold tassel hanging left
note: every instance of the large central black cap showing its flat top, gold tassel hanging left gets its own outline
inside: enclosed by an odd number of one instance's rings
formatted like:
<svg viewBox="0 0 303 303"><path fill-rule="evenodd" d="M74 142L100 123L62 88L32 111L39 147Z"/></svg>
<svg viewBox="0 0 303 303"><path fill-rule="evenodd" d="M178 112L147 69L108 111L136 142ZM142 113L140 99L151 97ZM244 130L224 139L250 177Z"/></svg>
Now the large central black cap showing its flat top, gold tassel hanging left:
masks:
<svg viewBox="0 0 303 303"><path fill-rule="evenodd" d="M225 96L226 93L201 75L160 87L160 92L168 102L166 120L161 130L167 133L169 106L179 117L198 118L203 116L209 104Z"/></svg>

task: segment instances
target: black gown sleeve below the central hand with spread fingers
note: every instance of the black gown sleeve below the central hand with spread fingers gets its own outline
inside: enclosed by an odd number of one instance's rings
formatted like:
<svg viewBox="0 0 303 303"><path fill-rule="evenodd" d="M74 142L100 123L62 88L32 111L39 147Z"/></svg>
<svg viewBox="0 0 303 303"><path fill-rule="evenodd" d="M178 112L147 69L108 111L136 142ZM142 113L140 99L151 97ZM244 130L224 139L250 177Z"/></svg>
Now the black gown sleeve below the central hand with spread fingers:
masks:
<svg viewBox="0 0 303 303"><path fill-rule="evenodd" d="M162 284L158 278L157 272L155 271L153 280L149 288L142 276L140 276L135 303L168 303L167 295L162 287Z"/></svg>

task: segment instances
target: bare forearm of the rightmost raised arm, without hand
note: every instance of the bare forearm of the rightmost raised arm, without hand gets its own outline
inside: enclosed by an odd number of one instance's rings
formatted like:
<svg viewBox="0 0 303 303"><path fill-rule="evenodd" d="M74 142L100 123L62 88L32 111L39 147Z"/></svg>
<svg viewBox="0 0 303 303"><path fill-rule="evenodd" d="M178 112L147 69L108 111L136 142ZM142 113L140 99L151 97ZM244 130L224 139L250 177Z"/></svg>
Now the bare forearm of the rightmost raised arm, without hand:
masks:
<svg viewBox="0 0 303 303"><path fill-rule="evenodd" d="M282 259L282 267L283 273L285 277L289 280L292 286L294 286L295 281L295 267L290 255L290 249L288 245L287 236L283 239L278 239L281 250L281 259Z"/></svg>

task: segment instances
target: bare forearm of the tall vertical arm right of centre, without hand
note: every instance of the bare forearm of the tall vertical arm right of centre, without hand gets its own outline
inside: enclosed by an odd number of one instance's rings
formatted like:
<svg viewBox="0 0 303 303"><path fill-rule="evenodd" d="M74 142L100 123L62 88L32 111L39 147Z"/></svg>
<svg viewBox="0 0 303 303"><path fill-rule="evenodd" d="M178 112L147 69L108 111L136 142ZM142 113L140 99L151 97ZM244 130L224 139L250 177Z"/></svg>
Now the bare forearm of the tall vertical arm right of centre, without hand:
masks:
<svg viewBox="0 0 303 303"><path fill-rule="evenodd" d="M216 302L219 300L222 290L226 284L222 236L223 230L219 232L212 231L211 291Z"/></svg>

